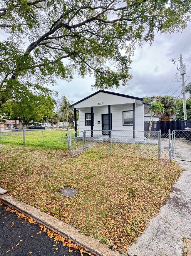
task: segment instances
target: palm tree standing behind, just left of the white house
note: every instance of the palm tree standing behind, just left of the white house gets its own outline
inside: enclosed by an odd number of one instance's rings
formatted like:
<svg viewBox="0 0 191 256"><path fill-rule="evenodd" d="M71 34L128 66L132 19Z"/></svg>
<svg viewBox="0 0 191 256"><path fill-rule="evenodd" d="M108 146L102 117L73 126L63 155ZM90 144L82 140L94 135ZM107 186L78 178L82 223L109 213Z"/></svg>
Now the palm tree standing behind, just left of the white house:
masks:
<svg viewBox="0 0 191 256"><path fill-rule="evenodd" d="M74 116L74 110L70 108L70 105L73 103L73 101L69 100L69 96L66 97L65 95L61 96L61 99L57 100L57 105L58 105L58 114L61 115L63 118L63 122L65 120L65 117L67 118L68 122L68 117ZM64 124L63 124L64 128Z"/></svg>

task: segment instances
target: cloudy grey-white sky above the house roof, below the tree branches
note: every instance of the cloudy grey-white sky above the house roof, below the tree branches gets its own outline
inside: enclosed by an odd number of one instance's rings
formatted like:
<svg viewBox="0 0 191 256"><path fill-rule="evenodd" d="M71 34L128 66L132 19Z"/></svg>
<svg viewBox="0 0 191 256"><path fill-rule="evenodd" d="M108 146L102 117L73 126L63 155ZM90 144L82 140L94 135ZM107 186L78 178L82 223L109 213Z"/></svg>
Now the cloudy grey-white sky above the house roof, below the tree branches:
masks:
<svg viewBox="0 0 191 256"><path fill-rule="evenodd" d="M149 43L144 43L142 48L137 46L130 70L133 79L129 80L126 87L114 88L112 91L141 98L157 94L179 96L182 82L181 79L177 82L177 78L181 77L176 77L176 73L179 71L177 71L177 65L172 63L172 58L180 57L180 53L182 53L183 62L186 63L186 66L190 64L185 75L185 81L188 79L186 81L188 84L191 81L191 78L187 77L191 76L191 23L182 33L170 35L157 33L153 45L149 46ZM180 63L176 63L180 67ZM69 95L71 101L77 102L96 92L96 90L91 90L92 84L94 84L93 77L86 76L81 79L74 76L74 79L69 83L58 80L58 86L54 89L60 92L60 96Z"/></svg>

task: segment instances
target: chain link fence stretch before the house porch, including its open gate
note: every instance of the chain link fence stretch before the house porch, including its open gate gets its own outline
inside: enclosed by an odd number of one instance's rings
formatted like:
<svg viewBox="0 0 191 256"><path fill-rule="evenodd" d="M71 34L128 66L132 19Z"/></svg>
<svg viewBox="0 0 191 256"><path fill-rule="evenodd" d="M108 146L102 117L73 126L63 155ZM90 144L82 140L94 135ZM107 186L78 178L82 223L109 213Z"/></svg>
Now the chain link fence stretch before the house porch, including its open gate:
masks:
<svg viewBox="0 0 191 256"><path fill-rule="evenodd" d="M100 154L137 156L147 159L160 159L161 156L159 131L84 130L78 134L74 137L71 134L71 156L89 150L98 151ZM80 140L81 147L78 147L76 144Z"/></svg>

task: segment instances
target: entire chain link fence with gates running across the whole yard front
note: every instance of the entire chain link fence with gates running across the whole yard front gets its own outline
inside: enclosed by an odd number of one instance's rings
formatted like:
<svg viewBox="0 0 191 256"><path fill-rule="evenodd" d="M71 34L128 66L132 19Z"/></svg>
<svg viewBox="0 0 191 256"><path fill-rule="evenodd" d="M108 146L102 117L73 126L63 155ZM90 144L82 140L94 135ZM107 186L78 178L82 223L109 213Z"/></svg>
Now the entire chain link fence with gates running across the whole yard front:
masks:
<svg viewBox="0 0 191 256"><path fill-rule="evenodd" d="M171 159L191 161L191 129L160 131L119 130L7 130L0 129L1 143L45 146L70 150L71 156L93 150L100 154L117 154L161 159L161 149ZM163 155L162 157L165 157Z"/></svg>

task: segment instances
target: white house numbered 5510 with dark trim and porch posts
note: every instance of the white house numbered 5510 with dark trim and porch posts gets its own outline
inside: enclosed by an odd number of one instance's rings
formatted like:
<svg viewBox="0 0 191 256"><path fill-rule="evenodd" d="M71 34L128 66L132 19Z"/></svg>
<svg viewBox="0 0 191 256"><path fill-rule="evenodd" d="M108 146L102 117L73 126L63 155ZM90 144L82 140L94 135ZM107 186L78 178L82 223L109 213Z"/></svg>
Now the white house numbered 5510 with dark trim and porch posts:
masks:
<svg viewBox="0 0 191 256"><path fill-rule="evenodd" d="M74 108L75 131L79 110L80 131L102 130L101 135L108 135L107 130L143 131L150 104L144 104L143 98L99 90L70 107Z"/></svg>

